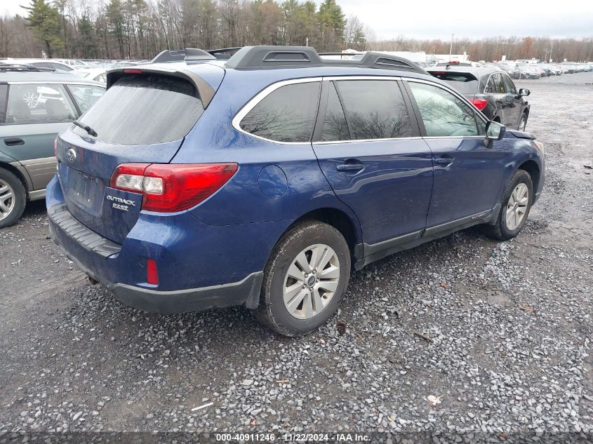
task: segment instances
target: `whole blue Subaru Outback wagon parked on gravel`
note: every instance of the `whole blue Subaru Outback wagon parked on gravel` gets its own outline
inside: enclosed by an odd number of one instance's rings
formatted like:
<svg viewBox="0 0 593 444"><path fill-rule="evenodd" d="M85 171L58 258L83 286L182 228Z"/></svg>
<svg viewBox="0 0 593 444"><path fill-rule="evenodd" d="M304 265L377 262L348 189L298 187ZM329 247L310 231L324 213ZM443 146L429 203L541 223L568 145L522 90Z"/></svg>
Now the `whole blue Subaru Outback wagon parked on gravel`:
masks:
<svg viewBox="0 0 593 444"><path fill-rule="evenodd" d="M55 150L51 236L91 281L289 336L370 262L474 224L517 236L544 183L542 144L418 65L308 47L114 69Z"/></svg>

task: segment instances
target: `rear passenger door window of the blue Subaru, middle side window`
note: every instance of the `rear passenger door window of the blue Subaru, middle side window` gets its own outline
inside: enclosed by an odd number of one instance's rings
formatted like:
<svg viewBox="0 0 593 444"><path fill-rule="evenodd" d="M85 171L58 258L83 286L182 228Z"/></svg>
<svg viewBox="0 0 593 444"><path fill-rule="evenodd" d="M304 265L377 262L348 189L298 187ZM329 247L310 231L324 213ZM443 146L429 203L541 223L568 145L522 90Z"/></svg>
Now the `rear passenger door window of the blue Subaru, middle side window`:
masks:
<svg viewBox="0 0 593 444"><path fill-rule="evenodd" d="M411 137L408 109L397 81L335 81L352 140Z"/></svg>

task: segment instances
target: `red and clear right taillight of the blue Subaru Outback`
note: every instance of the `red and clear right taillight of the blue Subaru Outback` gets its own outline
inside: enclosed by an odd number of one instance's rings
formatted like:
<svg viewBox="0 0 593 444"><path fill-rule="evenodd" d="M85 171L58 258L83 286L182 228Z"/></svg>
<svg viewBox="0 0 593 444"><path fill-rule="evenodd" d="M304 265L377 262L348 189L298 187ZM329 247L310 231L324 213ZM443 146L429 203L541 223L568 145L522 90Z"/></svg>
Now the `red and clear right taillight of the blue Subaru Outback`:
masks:
<svg viewBox="0 0 593 444"><path fill-rule="evenodd" d="M208 199L236 173L236 163L123 163L111 187L141 193L142 210L170 213Z"/></svg>

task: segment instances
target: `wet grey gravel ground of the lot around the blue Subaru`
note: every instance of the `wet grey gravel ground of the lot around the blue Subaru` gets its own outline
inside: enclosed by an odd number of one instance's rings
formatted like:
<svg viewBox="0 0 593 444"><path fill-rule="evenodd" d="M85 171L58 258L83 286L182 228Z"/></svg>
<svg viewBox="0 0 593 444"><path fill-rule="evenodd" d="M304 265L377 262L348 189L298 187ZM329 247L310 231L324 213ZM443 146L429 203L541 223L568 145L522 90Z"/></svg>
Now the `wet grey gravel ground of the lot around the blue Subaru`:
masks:
<svg viewBox="0 0 593 444"><path fill-rule="evenodd" d="M298 339L241 308L125 307L58 252L33 203L0 230L0 440L384 431L428 432L408 443L462 432L465 442L589 442L592 82L518 82L532 91L528 130L545 142L547 177L516 239L474 227L371 264L339 314ZM403 438L373 436L387 439Z"/></svg>

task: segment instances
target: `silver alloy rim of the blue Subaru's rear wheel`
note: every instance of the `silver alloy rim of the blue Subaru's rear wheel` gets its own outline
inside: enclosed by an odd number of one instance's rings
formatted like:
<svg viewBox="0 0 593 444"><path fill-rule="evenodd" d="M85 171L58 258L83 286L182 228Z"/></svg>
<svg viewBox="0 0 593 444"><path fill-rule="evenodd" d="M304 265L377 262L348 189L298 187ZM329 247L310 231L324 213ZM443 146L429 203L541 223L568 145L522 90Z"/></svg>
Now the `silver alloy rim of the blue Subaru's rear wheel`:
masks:
<svg viewBox="0 0 593 444"><path fill-rule="evenodd" d="M340 260L328 245L302 250L284 277L284 305L291 316L309 319L327 306L338 289Z"/></svg>

